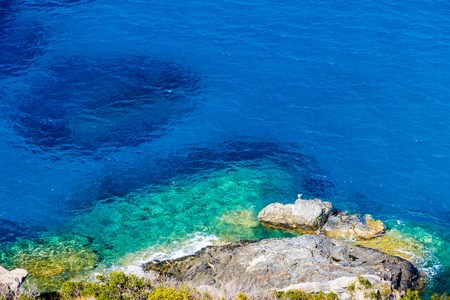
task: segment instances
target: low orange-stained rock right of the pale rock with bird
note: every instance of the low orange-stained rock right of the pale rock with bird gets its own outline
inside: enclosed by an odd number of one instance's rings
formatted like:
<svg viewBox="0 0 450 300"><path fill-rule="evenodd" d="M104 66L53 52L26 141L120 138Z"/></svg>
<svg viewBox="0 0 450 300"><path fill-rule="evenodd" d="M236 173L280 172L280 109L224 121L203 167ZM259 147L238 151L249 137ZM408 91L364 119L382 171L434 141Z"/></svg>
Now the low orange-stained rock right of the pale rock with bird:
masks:
<svg viewBox="0 0 450 300"><path fill-rule="evenodd" d="M330 216L322 231L329 237L371 239L383 234L385 227L370 215L341 213Z"/></svg>

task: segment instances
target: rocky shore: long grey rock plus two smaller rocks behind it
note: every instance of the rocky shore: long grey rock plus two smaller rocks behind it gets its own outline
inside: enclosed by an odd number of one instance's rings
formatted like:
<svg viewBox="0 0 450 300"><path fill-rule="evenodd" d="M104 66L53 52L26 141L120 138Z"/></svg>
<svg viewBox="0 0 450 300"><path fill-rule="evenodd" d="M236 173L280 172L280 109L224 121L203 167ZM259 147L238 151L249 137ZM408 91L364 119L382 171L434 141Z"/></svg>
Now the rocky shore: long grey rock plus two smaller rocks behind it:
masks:
<svg viewBox="0 0 450 300"><path fill-rule="evenodd" d="M294 204L270 204L259 213L258 220L267 227L307 234L210 246L190 256L152 261L143 268L219 299L229 291L290 289L334 292L341 299L349 299L354 296L349 286L358 278L368 280L373 293L380 294L384 289L389 299L398 299L401 293L419 286L419 271L409 261L342 239L382 235L383 223L369 215L347 214L330 202L304 200L299 195Z"/></svg>

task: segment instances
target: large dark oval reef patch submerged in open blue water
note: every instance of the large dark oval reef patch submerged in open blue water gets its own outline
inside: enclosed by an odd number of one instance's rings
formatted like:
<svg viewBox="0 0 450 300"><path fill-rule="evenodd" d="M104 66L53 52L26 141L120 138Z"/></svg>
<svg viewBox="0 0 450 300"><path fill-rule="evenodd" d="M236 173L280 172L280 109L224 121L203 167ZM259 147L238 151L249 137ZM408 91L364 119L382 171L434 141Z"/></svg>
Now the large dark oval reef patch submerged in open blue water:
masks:
<svg viewBox="0 0 450 300"><path fill-rule="evenodd" d="M40 63L47 76L26 74L27 85L9 96L9 115L17 133L43 151L89 154L151 141L196 106L201 88L181 65L142 56Z"/></svg>

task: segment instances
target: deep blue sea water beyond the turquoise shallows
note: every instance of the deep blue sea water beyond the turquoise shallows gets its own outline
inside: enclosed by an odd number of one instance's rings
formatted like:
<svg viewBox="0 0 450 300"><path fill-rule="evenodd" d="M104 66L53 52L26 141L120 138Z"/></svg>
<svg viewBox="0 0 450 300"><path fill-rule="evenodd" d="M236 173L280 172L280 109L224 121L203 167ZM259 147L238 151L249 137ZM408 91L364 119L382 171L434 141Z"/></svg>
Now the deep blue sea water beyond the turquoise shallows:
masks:
<svg viewBox="0 0 450 300"><path fill-rule="evenodd" d="M438 0L1 0L0 248L246 161L288 174L251 207L301 193L427 231L448 291L449 16Z"/></svg>

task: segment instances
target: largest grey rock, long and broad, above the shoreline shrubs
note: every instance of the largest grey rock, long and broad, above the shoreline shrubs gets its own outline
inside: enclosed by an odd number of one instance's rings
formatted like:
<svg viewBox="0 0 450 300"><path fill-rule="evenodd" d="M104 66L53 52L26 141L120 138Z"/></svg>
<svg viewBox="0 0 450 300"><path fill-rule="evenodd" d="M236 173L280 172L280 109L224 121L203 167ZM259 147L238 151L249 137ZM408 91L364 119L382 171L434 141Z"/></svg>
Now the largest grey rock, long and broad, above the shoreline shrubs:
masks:
<svg viewBox="0 0 450 300"><path fill-rule="evenodd" d="M339 293L351 282L347 277L357 274L404 291L417 287L419 279L407 260L323 235L211 246L191 256L150 262L144 270L215 291L219 297L225 291L283 290L302 283L312 288L338 286Z"/></svg>

